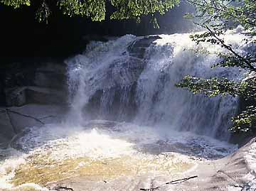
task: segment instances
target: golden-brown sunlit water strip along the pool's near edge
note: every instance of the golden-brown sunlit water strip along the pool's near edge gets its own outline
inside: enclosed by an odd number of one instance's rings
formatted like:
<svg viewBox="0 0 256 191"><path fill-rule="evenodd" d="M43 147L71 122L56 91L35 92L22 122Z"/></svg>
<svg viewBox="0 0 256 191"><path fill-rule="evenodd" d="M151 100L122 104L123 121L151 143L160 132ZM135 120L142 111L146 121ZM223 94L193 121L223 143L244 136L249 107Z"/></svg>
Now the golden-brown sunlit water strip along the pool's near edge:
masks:
<svg viewBox="0 0 256 191"><path fill-rule="evenodd" d="M16 174L11 183L15 186L27 182L46 185L48 182L63 180L78 175L85 175L89 180L112 180L126 175L142 175L144 173L173 174L181 173L193 167L192 163L174 160L174 156L144 155L122 156L121 158L108 158L95 160L92 158L66 159L45 163L46 158L33 158L25 165L16 169Z"/></svg>

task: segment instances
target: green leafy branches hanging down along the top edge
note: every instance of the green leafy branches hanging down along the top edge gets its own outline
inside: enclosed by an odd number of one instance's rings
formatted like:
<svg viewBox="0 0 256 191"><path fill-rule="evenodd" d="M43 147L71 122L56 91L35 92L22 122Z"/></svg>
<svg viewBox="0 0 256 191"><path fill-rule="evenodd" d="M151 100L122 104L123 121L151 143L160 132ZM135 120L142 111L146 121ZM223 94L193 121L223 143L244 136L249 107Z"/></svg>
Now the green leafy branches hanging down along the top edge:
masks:
<svg viewBox="0 0 256 191"><path fill-rule="evenodd" d="M19 8L22 5L29 6L33 0L0 0L0 3ZM105 20L106 4L114 7L111 19L128 19L154 13L166 13L179 3L179 0L34 0L40 1L36 18L38 21L47 21L50 16L48 1L55 1L59 9L68 16L86 16L92 21ZM154 18L155 21L155 18Z"/></svg>

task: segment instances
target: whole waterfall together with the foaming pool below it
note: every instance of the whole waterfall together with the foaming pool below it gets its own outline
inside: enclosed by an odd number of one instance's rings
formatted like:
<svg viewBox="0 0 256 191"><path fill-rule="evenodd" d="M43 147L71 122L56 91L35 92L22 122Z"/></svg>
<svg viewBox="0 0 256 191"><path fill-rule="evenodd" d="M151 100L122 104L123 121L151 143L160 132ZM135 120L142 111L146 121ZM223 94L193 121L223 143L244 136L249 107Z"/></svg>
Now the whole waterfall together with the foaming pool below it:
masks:
<svg viewBox="0 0 256 191"><path fill-rule="evenodd" d="M225 36L240 53L241 36ZM227 127L238 99L195 96L174 84L184 75L238 79L240 72L212 70L220 58L191 50L225 51L218 46L196 46L189 34L160 37L92 42L68 59L68 116L28 127L14 148L0 151L0 190L48 190L49 182L76 176L176 175L193 170L198 158L233 152Z"/></svg>

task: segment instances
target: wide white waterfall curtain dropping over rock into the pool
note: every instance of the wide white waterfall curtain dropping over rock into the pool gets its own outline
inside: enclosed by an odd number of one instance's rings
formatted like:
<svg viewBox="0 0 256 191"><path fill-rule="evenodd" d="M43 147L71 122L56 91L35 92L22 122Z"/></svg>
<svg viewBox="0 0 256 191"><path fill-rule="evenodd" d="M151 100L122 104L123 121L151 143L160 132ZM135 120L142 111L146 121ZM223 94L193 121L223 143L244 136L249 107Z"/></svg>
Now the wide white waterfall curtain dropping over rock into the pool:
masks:
<svg viewBox="0 0 256 191"><path fill-rule="evenodd" d="M220 61L216 53L225 50L196 45L189 36L127 35L107 43L91 42L84 53L67 60L73 121L129 121L228 140L238 99L193 95L175 84L185 75L239 79L240 72L212 69ZM235 31L225 36L240 53L245 51L241 39ZM211 54L196 53L199 48Z"/></svg>

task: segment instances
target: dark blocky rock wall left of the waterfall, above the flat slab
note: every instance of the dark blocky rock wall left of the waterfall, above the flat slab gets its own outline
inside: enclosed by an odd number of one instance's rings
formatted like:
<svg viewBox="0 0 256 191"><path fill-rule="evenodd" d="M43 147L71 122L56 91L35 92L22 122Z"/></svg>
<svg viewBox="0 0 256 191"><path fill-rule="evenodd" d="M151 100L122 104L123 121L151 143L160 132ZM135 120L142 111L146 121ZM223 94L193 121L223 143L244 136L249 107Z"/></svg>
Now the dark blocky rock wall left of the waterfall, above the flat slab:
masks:
<svg viewBox="0 0 256 191"><path fill-rule="evenodd" d="M65 65L61 62L14 63L6 68L4 94L8 107L24 104L65 104Z"/></svg>

